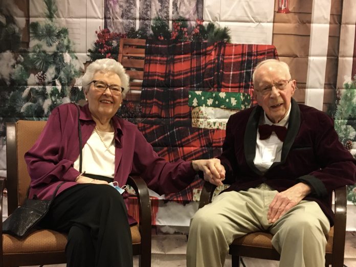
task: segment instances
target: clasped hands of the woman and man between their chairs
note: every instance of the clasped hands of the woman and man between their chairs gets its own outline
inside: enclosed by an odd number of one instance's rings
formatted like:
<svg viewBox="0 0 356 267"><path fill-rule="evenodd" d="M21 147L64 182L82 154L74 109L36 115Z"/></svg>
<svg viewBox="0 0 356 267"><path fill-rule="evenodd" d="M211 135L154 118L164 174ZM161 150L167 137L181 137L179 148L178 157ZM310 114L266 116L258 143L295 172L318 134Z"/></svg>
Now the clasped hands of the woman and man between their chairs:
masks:
<svg viewBox="0 0 356 267"><path fill-rule="evenodd" d="M194 170L204 172L204 180L213 185L220 186L225 180L225 168L219 159L192 161Z"/></svg>

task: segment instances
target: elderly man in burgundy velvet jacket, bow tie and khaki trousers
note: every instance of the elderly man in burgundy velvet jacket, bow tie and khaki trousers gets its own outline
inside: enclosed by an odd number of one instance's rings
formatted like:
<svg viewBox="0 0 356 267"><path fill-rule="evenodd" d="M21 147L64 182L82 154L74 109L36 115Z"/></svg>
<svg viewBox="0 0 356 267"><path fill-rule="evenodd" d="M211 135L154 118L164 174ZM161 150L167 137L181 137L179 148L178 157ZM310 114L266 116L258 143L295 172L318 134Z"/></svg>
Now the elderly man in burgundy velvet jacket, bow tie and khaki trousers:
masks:
<svg viewBox="0 0 356 267"><path fill-rule="evenodd" d="M333 121L292 98L286 63L260 62L253 82L258 106L230 117L219 159L192 163L205 180L231 186L192 218L187 266L224 265L229 244L256 231L273 234L279 266L325 266L329 195L355 183L355 161Z"/></svg>

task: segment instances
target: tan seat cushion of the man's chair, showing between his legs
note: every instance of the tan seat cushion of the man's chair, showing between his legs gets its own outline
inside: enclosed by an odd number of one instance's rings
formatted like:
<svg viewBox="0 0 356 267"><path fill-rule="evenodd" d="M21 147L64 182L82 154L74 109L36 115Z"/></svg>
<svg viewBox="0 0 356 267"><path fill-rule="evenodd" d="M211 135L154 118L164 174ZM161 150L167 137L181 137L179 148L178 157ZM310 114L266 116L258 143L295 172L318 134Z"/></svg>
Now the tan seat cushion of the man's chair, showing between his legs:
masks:
<svg viewBox="0 0 356 267"><path fill-rule="evenodd" d="M333 239L333 227L330 229L327 244L326 244L326 253L331 253L332 251L332 239ZM266 248L272 249L272 235L265 232L255 232L247 234L240 238L236 238L232 245L243 245L255 248Z"/></svg>

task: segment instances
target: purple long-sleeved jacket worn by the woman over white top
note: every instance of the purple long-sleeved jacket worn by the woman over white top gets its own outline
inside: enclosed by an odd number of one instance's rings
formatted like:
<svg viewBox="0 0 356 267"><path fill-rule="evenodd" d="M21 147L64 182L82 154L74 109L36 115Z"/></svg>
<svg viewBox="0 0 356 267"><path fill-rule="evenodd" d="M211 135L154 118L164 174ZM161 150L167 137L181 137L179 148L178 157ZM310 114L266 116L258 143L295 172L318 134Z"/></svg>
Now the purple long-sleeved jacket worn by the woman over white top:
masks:
<svg viewBox="0 0 356 267"><path fill-rule="evenodd" d="M80 107L82 146L90 138L95 122L88 105ZM153 191L164 194L177 192L187 187L196 172L190 162L179 160L167 162L154 152L135 124L112 119L115 135L115 176L120 186L126 184L130 173L140 174ZM25 154L31 177L30 195L39 199L50 199L55 188L65 181L58 190L77 183L80 174L73 168L79 157L78 111L74 104L56 107L34 146Z"/></svg>

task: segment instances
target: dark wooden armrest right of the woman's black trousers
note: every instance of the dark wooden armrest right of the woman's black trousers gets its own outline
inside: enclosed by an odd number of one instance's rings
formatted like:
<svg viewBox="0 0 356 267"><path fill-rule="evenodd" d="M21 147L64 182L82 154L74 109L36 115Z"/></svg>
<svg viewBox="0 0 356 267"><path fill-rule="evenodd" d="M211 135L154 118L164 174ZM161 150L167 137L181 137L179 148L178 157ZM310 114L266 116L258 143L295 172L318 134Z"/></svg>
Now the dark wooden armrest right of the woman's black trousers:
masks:
<svg viewBox="0 0 356 267"><path fill-rule="evenodd" d="M128 176L127 184L135 190L138 198L141 240L151 240L151 203L147 185L140 176L136 175Z"/></svg>

